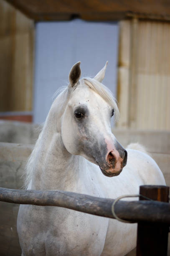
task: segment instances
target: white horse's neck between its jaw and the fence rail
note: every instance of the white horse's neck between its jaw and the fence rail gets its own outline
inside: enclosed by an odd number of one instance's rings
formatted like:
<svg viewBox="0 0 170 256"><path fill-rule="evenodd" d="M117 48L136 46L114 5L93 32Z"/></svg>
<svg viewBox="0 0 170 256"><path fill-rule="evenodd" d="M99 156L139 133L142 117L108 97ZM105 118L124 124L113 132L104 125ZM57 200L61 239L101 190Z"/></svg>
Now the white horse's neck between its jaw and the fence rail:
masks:
<svg viewBox="0 0 170 256"><path fill-rule="evenodd" d="M86 173L86 159L71 155L63 145L59 129L61 127L60 119L58 113L53 111L52 108L36 148L32 172L32 189L76 191L82 173L84 175Z"/></svg>

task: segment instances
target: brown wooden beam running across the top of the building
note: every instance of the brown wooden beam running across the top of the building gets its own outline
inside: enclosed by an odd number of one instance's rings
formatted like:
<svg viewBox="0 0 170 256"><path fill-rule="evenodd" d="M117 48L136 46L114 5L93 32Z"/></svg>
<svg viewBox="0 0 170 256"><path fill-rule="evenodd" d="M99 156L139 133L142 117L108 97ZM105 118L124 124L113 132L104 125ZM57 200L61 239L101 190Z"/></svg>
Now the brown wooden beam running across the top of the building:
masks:
<svg viewBox="0 0 170 256"><path fill-rule="evenodd" d="M33 20L121 20L141 18L170 20L170 3L164 0L7 0Z"/></svg>

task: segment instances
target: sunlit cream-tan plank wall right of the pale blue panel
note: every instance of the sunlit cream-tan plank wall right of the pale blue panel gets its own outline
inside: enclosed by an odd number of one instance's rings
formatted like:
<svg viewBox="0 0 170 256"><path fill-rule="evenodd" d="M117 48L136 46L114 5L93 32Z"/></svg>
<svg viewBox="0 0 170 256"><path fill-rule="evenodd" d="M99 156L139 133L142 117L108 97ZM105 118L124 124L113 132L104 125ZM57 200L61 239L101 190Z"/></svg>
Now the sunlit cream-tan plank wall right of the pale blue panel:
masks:
<svg viewBox="0 0 170 256"><path fill-rule="evenodd" d="M170 23L120 22L118 127L170 130Z"/></svg>

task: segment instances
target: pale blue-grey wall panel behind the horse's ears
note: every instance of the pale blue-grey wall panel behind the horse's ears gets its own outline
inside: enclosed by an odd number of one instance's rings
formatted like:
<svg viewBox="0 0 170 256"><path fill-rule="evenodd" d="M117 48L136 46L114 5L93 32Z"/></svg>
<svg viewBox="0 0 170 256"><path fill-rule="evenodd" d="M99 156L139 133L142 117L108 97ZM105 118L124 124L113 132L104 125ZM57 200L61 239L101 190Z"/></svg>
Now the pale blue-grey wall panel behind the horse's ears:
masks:
<svg viewBox="0 0 170 256"><path fill-rule="evenodd" d="M116 95L117 48L117 23L37 23L34 123L45 121L54 92L68 84L69 71L77 61L85 77L94 76L108 60L104 84Z"/></svg>

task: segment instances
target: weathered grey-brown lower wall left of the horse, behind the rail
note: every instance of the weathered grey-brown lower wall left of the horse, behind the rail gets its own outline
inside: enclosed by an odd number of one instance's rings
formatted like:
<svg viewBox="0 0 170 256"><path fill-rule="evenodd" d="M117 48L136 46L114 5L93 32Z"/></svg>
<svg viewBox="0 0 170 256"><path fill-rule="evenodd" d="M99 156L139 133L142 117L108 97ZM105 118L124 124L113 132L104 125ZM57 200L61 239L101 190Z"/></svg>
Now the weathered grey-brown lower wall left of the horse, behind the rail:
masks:
<svg viewBox="0 0 170 256"><path fill-rule="evenodd" d="M0 143L0 187L21 189L25 163L32 145ZM19 205L0 202L0 255L21 255L17 234Z"/></svg>

